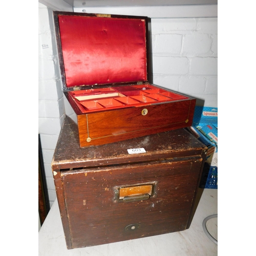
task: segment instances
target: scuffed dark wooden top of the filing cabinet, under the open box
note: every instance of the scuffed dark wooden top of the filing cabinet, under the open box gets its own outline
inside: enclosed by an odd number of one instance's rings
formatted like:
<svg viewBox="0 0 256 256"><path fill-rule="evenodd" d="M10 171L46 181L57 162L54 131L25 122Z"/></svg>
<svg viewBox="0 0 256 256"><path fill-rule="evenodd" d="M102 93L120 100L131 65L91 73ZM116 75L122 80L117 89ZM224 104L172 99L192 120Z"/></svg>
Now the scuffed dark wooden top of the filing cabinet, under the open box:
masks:
<svg viewBox="0 0 256 256"><path fill-rule="evenodd" d="M129 154L127 150L134 148L144 148L145 153ZM53 169L61 169L193 157L201 155L206 149L185 129L81 148L77 124L67 116L60 131L52 166Z"/></svg>

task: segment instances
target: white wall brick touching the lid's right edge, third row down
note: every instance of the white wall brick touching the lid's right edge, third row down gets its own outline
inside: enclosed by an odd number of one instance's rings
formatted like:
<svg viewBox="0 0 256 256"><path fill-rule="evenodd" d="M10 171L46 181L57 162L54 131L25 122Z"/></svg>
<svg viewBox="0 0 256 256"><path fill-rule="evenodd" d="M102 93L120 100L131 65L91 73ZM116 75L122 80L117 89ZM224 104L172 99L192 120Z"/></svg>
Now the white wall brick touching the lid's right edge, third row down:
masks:
<svg viewBox="0 0 256 256"><path fill-rule="evenodd" d="M153 56L154 75L185 75L188 73L188 71L188 59L185 57Z"/></svg>

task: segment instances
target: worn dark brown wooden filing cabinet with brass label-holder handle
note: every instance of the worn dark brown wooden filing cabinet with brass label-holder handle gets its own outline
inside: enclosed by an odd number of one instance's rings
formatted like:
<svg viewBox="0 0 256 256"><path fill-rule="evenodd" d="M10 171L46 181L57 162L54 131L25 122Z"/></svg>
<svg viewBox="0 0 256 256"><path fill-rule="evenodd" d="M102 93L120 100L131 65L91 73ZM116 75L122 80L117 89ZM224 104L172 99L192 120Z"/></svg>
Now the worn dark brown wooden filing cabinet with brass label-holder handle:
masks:
<svg viewBox="0 0 256 256"><path fill-rule="evenodd" d="M81 148L66 117L52 170L67 248L189 228L206 151L186 129Z"/></svg>

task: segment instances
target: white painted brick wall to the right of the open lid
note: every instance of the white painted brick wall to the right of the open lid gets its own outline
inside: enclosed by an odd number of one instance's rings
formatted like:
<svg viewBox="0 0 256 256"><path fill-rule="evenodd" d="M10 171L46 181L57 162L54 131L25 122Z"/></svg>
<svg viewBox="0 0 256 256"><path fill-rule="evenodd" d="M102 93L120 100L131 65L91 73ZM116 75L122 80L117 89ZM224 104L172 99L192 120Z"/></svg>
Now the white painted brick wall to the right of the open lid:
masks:
<svg viewBox="0 0 256 256"><path fill-rule="evenodd" d="M153 83L218 107L217 18L152 19Z"/></svg>

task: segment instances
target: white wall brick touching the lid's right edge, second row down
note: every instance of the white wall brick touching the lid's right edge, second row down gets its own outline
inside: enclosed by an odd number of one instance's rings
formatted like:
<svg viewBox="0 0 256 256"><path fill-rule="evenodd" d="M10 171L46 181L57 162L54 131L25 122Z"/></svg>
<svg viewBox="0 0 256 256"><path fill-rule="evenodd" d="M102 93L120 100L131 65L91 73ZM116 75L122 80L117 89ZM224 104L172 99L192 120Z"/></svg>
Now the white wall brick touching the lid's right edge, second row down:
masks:
<svg viewBox="0 0 256 256"><path fill-rule="evenodd" d="M153 54L168 53L169 55L180 54L182 35L159 34L153 41Z"/></svg>

